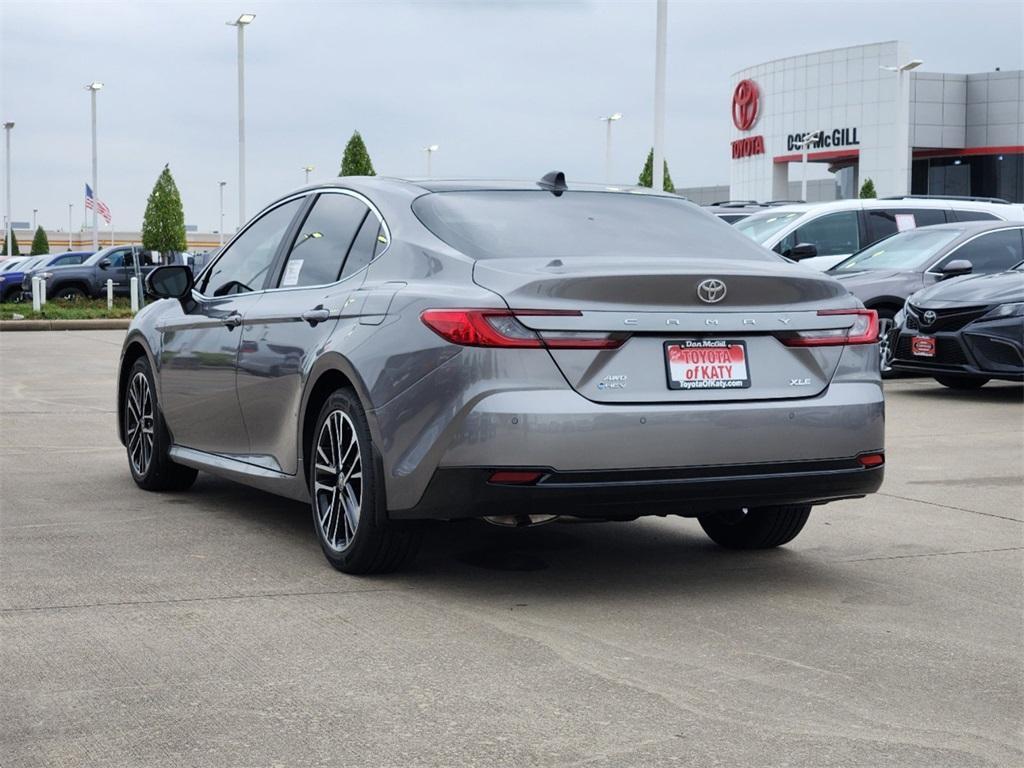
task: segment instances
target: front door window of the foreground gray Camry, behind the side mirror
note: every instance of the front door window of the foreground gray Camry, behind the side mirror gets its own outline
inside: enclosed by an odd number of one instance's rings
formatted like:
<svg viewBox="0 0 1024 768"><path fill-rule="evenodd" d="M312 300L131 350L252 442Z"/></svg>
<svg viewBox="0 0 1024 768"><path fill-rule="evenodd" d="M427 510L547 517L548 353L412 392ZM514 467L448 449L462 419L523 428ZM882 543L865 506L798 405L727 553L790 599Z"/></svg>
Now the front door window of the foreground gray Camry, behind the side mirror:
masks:
<svg viewBox="0 0 1024 768"><path fill-rule="evenodd" d="M301 198L289 201L253 222L207 270L200 293L227 296L261 291L278 246L302 203Z"/></svg>

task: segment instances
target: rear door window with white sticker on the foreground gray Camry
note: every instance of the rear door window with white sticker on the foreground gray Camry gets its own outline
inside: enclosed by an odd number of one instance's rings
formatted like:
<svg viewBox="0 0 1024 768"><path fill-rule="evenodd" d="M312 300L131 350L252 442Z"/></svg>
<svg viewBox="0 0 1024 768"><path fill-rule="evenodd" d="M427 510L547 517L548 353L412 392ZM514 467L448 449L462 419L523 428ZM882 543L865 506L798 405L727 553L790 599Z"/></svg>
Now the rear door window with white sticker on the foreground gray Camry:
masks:
<svg viewBox="0 0 1024 768"><path fill-rule="evenodd" d="M377 217L358 198L321 195L299 227L279 285L289 288L336 283L367 218L377 224ZM372 249L370 254L372 257Z"/></svg>

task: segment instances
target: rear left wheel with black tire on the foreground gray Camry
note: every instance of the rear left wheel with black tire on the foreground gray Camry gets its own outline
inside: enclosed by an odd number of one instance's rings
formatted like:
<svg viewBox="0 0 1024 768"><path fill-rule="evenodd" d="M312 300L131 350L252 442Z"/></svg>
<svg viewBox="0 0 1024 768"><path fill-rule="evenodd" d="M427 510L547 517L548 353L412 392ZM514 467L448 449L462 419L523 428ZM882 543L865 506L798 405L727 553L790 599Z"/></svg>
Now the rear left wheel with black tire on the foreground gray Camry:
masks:
<svg viewBox="0 0 1024 768"><path fill-rule="evenodd" d="M325 431L329 418L332 426ZM337 449L331 444L332 430L337 433ZM353 438L355 459L348 454ZM339 459L339 454L348 460ZM323 461L325 457L330 463ZM421 526L388 519L383 468L366 411L353 390L337 390L321 408L306 463L313 530L331 565L345 573L386 573L412 562L420 547ZM340 472L329 471L336 467ZM357 505L352 503L356 496ZM343 498L356 508L354 526Z"/></svg>

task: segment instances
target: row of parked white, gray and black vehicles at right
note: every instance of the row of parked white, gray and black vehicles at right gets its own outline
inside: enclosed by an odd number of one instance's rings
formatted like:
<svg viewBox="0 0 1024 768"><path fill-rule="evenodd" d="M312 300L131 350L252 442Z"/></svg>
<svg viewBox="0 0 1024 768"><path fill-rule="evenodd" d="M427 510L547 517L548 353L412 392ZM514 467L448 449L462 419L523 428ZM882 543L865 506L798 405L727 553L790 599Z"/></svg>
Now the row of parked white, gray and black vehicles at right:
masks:
<svg viewBox="0 0 1024 768"><path fill-rule="evenodd" d="M910 196L709 210L877 310L885 374L955 388L1024 380L1024 207Z"/></svg>

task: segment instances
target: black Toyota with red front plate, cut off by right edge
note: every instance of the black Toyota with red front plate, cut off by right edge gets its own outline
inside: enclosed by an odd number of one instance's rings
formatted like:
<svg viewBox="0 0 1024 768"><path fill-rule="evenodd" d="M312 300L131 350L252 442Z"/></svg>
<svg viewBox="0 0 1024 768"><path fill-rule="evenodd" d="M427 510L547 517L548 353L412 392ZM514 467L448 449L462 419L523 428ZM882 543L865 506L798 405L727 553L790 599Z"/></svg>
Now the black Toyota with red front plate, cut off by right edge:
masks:
<svg viewBox="0 0 1024 768"><path fill-rule="evenodd" d="M897 371L928 374L953 389L1024 381L1024 263L926 288L902 314Z"/></svg>

